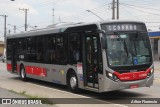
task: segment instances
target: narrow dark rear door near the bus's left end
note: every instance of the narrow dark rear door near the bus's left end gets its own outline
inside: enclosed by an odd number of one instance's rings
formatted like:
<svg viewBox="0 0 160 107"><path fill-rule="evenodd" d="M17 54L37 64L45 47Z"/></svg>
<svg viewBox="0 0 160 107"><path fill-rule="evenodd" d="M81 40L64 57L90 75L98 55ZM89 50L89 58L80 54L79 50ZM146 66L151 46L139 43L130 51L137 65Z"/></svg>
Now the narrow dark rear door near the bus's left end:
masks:
<svg viewBox="0 0 160 107"><path fill-rule="evenodd" d="M12 64L12 72L17 70L17 61L16 61L16 43L12 42L12 50L11 50L11 64Z"/></svg>

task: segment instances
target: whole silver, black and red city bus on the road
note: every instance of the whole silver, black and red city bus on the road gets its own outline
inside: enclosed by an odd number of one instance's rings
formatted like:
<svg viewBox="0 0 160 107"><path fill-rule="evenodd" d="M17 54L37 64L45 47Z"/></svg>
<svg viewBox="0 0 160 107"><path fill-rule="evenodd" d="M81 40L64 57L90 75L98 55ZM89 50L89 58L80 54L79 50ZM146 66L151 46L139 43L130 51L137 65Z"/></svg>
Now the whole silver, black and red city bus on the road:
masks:
<svg viewBox="0 0 160 107"><path fill-rule="evenodd" d="M7 71L22 80L38 79L107 92L150 87L154 66L146 25L102 21L55 25L7 36Z"/></svg>

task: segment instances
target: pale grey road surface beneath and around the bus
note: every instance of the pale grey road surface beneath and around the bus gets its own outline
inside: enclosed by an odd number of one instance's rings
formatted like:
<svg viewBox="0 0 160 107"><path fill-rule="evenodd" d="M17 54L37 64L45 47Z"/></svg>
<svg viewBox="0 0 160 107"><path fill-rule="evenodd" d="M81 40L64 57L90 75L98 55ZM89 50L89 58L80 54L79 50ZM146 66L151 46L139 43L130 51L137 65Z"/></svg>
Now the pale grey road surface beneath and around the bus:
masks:
<svg viewBox="0 0 160 107"><path fill-rule="evenodd" d="M92 105L95 107L106 105L100 103L110 103L107 104L111 107L150 107L151 104L125 104L128 99L137 98L160 98L160 62L155 62L155 80L153 86L150 88L143 87L137 89L126 89L121 91L113 91L106 93L95 93L90 91L81 90L79 94L73 94L67 90L66 86L57 85L53 83L43 82L31 79L28 82L23 82L17 75L10 74L6 72L6 65L0 62L0 87L8 90L15 90L17 92L25 91L27 94L33 96L39 96L43 98L96 98L91 102L96 102L98 105ZM82 102L83 103L83 102ZM117 104L118 103L118 104ZM63 104L57 104L57 106L64 106ZM73 106L73 105L65 105ZM76 107L82 105L76 105ZM89 107L89 105L85 105ZM154 107L159 107L160 105L154 104Z"/></svg>

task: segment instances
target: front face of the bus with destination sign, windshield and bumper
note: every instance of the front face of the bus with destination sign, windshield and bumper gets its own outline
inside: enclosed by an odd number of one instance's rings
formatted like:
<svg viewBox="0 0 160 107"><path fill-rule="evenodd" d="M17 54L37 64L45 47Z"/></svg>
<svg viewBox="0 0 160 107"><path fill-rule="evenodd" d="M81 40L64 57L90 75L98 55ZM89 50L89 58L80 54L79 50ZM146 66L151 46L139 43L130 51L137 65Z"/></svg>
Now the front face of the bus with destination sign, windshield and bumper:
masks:
<svg viewBox="0 0 160 107"><path fill-rule="evenodd" d="M103 23L104 90L150 87L153 60L146 26L140 22Z"/></svg>

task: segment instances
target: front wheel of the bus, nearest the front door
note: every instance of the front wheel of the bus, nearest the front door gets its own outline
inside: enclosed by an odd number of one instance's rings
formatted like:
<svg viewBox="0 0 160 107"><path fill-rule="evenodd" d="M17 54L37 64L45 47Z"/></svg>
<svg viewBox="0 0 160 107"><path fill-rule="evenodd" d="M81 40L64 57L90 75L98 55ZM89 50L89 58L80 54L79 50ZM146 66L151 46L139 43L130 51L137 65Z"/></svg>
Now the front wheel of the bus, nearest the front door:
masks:
<svg viewBox="0 0 160 107"><path fill-rule="evenodd" d="M78 93L79 88L78 88L78 79L77 76L74 72L71 72L68 75L68 80L67 80L67 86L68 89L73 92L73 93Z"/></svg>

